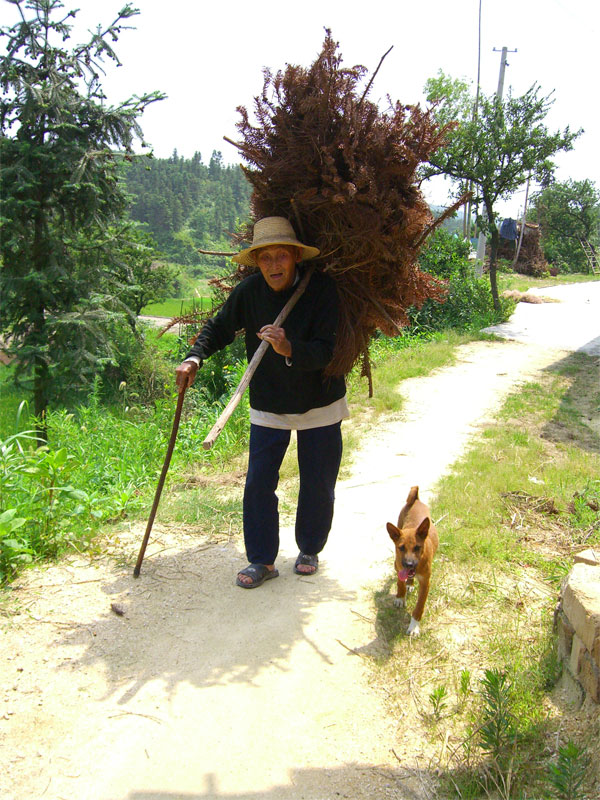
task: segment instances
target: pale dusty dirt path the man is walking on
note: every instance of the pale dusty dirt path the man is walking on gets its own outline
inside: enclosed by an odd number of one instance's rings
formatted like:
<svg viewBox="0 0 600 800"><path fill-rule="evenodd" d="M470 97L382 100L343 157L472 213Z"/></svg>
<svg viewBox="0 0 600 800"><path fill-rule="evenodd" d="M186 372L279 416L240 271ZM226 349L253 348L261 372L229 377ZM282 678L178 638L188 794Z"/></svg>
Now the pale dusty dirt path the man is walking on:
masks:
<svg viewBox="0 0 600 800"><path fill-rule="evenodd" d="M438 797L435 748L403 729L361 657L377 649L373 592L391 571L385 522L411 485L428 500L505 396L564 357L475 343L456 366L404 382L402 415L368 432L338 485L314 577L292 572L289 525L280 577L244 591L239 537L159 524L138 580L143 525L122 530L112 555L24 575L2 618L3 800ZM435 624L426 612L422 627Z"/></svg>

